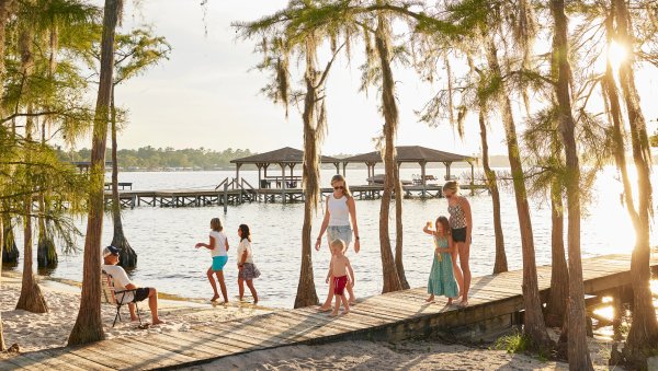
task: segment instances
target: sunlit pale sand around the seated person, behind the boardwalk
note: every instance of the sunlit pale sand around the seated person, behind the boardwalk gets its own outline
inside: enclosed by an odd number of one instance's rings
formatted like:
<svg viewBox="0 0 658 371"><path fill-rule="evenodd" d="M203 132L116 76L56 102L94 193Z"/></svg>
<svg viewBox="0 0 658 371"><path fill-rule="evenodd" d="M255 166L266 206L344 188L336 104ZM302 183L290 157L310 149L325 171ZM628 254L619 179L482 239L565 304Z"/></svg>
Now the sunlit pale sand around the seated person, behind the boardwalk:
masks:
<svg viewBox="0 0 658 371"><path fill-rule="evenodd" d="M15 310L21 293L20 279L16 277L2 277L0 311L2 312L4 341L7 346L18 344L21 352L65 346L76 322L80 305L79 289L52 281L44 281L41 287L49 312L36 314ZM102 315L106 338L186 331L190 327L213 322L230 321L271 312L269 309L254 308L253 305L239 306L237 303L225 306L212 305L209 302L202 304L160 300L159 304L160 318L166 324L151 326L148 329L139 329L137 328L138 323L129 322L127 306L122 309L123 322L117 322L113 328L112 322L114 321L115 309L112 305L103 304ZM150 323L148 301L139 303L139 309L143 322Z"/></svg>

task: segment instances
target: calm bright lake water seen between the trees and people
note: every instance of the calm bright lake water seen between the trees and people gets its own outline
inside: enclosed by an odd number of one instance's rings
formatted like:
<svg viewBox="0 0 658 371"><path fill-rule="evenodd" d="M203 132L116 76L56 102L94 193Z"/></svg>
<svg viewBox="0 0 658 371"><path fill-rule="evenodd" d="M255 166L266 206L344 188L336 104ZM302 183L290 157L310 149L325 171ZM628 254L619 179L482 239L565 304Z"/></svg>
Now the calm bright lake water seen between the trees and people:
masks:
<svg viewBox="0 0 658 371"><path fill-rule="evenodd" d="M453 169L453 174L469 170ZM279 175L277 172L273 170ZM272 173L272 174L274 174ZM402 169L402 178L411 178L418 170ZM328 182L333 171L322 171ZM440 178L443 171L428 171ZM133 182L134 189L157 188L209 188L234 172L169 172L169 173L123 173L120 182ZM242 171L241 175L256 184L256 171ZM365 170L348 170L348 181L363 184ZM654 177L654 184L658 178ZM601 254L629 252L634 233L625 210L620 205L621 185L615 172L606 170L600 175L597 198L588 207L588 216L582 220L582 253L585 257ZM495 239L491 222L491 199L487 194L468 196L474 213L474 241L472 246L472 269L474 275L490 274L495 257ZM411 287L424 286L432 264L433 245L431 237L422 233L428 220L446 213L444 199L404 201L405 255L407 279ZM356 276L355 293L371 295L382 290L382 262L378 245L379 200L356 202L361 253L349 253ZM152 208L140 207L124 211L125 234L139 255L138 268L132 273L140 286L154 286L160 291L188 298L209 298L212 289L205 278L211 264L209 253L196 251L194 244L207 241L209 220L220 217L229 236L231 250L225 268L229 295L237 295L236 247L237 228L248 223L252 230L254 262L262 276L256 281L263 305L290 308L293 305L299 274L302 219L304 207L300 204L247 204L229 207L224 215L220 207L204 208ZM321 222L321 210L315 219L314 237ZM546 205L532 201L532 220L538 264L551 260L551 213ZM502 195L502 222L506 248L510 269L521 268L519 227L513 196ZM392 224L394 221L392 220ZM80 221L80 225L84 225ZM83 229L82 229L83 230ZM395 229L392 225L392 232ZM16 233L20 237L20 233ZM105 219L103 245L112 240L112 221ZM658 236L653 233L651 242ZM20 243L20 242L19 242ZM82 246L82 243L80 243ZM326 295L325 275L329 253L322 246L314 251L315 279L318 294ZM59 266L52 273L55 277L82 280L82 254L60 256Z"/></svg>

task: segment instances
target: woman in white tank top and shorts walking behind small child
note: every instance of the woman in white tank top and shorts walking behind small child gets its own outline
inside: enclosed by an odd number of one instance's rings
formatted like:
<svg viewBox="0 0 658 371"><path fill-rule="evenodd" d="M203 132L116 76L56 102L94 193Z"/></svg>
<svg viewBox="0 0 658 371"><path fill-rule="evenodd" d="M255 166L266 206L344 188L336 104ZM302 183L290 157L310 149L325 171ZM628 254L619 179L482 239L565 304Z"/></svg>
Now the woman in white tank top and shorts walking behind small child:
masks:
<svg viewBox="0 0 658 371"><path fill-rule="evenodd" d="M322 227L320 228L320 235L316 241L316 250L320 250L322 242L322 235L327 232L327 243L330 246L331 242L336 240L342 240L345 243L345 250L350 247L352 242L352 233L354 235L354 252L359 253L361 244L359 241L359 225L356 224L356 206L354 198L350 194L350 188L345 178L337 174L331 178L331 186L333 193L327 197L327 208L325 212L325 219L322 220ZM350 219L352 223L350 224ZM353 231L352 231L353 229ZM331 250L329 248L329 252ZM333 280L329 282L329 294L327 301L320 308L320 311L327 312L331 310L331 301L333 300ZM355 301L354 292L352 291L352 285L348 285L348 293L350 294L350 303Z"/></svg>

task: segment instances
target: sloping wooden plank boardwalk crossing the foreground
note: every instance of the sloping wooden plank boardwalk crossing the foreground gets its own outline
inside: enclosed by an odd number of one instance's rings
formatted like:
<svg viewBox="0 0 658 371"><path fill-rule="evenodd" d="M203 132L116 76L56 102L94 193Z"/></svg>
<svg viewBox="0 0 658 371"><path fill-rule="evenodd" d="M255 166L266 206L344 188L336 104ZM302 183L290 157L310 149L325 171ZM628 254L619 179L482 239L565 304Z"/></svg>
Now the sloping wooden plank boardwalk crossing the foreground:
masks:
<svg viewBox="0 0 658 371"><path fill-rule="evenodd" d="M585 291L589 294L629 285L629 256L605 255L583 259ZM658 258L651 262L658 266ZM546 297L551 267L537 269ZM424 302L426 288L375 295L352 312L331 318L315 308L223 322L188 332L99 341L84 347L22 353L0 361L0 370L149 370L206 363L249 351L298 344L344 339L400 340L427 338L451 328L510 317L523 310L520 270L473 279L466 309Z"/></svg>

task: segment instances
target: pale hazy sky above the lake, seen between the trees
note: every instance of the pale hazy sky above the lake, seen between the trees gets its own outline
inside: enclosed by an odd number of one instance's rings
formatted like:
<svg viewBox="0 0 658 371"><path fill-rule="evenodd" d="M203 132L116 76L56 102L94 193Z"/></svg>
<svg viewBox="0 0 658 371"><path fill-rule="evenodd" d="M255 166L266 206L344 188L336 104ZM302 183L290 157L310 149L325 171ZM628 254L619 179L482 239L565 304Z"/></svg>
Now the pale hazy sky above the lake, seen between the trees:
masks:
<svg viewBox="0 0 658 371"><path fill-rule="evenodd" d="M286 3L208 0L204 9L200 0L126 1L121 31L151 26L172 45L172 53L169 60L116 88L117 105L128 109L120 147L204 147L217 151L240 148L256 152L281 147L302 149L299 112L291 108L286 119L284 109L260 93L269 77L253 69L260 58L253 53L256 44L238 39L231 27L232 22L257 20ZM325 154L373 151L373 138L382 131L377 91L371 90L367 96L359 92L358 67L358 61L340 59L331 71ZM439 86L421 83L416 72L397 66L394 76L400 116L399 146L480 153L476 117L466 121L465 140L457 138L449 123L438 127L419 123L416 112ZM656 96L651 84L646 85L649 96ZM507 153L500 125L492 125L489 143L490 154Z"/></svg>

